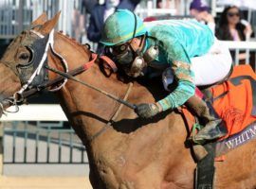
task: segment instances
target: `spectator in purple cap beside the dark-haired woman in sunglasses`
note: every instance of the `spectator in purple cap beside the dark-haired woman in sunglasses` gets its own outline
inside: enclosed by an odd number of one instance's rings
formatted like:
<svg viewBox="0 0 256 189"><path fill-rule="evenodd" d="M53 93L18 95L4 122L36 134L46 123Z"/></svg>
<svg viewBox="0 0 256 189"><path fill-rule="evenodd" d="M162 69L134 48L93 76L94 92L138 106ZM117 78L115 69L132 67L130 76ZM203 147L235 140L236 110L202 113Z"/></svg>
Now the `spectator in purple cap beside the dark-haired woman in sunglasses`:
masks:
<svg viewBox="0 0 256 189"><path fill-rule="evenodd" d="M201 23L208 25L211 31L215 31L215 22L210 14L210 8L205 0L193 0L190 6L191 15Z"/></svg>

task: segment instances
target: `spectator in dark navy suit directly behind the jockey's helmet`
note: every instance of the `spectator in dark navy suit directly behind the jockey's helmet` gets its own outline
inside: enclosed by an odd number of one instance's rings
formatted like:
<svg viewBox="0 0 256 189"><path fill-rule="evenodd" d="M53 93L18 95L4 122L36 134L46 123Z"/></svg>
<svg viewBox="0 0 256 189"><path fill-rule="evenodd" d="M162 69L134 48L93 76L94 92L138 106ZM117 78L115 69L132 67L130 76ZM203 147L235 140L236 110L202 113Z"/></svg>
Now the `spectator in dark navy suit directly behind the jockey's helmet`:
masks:
<svg viewBox="0 0 256 189"><path fill-rule="evenodd" d="M134 10L139 0L106 0L103 5L97 4L91 11L89 26L87 28L87 38L93 43L98 43L97 53L103 52L104 46L99 43L101 40L101 30L106 18L114 13L118 8Z"/></svg>

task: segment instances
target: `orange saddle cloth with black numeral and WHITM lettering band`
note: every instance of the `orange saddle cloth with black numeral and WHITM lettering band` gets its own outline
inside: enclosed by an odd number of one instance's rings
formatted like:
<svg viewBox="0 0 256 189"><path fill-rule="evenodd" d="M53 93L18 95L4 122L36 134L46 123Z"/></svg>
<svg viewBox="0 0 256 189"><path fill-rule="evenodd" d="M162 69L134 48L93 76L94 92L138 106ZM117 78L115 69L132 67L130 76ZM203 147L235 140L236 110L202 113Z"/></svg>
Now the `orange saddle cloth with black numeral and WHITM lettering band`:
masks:
<svg viewBox="0 0 256 189"><path fill-rule="evenodd" d="M210 88L213 108L229 130L216 144L216 157L256 139L256 75L249 65L235 66L229 79ZM188 126L195 118L182 108Z"/></svg>

